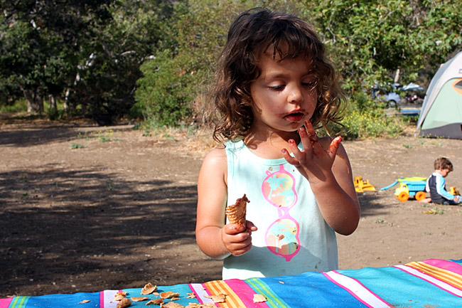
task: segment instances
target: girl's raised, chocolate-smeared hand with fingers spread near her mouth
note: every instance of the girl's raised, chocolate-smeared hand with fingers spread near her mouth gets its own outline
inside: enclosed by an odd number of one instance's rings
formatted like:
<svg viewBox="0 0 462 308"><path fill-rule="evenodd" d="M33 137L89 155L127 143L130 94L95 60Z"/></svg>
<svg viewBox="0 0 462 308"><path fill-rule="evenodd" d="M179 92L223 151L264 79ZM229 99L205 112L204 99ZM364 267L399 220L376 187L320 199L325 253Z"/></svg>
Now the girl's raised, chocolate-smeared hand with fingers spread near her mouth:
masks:
<svg viewBox="0 0 462 308"><path fill-rule="evenodd" d="M286 161L294 165L310 184L333 177L332 165L342 137L336 137L327 150L323 149L309 120L305 121L305 127L299 129L299 135L303 150L300 151L294 139L289 139L289 148L294 156L287 149L282 149Z"/></svg>

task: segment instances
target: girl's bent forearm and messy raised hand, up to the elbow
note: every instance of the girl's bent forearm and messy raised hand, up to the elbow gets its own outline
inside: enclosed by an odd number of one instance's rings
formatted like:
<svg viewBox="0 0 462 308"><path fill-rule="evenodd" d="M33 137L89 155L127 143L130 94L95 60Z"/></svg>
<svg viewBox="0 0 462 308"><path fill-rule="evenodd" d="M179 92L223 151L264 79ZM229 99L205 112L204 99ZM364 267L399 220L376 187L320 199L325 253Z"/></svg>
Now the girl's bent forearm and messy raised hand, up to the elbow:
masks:
<svg viewBox="0 0 462 308"><path fill-rule="evenodd" d="M299 129L303 151L294 140L283 149L284 158L308 179L323 218L335 232L349 235L358 227L360 203L353 184L350 161L340 144L341 137L319 140L311 123Z"/></svg>

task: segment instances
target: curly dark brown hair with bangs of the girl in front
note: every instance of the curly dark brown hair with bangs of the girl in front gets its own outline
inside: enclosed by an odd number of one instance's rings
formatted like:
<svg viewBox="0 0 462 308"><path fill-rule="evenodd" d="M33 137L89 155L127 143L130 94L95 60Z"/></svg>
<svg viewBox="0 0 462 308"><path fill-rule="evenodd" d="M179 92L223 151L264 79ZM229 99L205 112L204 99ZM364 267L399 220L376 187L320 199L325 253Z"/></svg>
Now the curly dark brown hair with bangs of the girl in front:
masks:
<svg viewBox="0 0 462 308"><path fill-rule="evenodd" d="M259 77L258 56L271 51L278 61L300 55L313 61L318 102L311 117L313 127L326 128L338 123L344 96L333 65L326 59L326 48L313 28L291 14L254 8L237 16L227 36L227 43L217 62L213 102L217 122L213 137L242 139L254 120L250 85ZM328 131L328 129L326 129Z"/></svg>

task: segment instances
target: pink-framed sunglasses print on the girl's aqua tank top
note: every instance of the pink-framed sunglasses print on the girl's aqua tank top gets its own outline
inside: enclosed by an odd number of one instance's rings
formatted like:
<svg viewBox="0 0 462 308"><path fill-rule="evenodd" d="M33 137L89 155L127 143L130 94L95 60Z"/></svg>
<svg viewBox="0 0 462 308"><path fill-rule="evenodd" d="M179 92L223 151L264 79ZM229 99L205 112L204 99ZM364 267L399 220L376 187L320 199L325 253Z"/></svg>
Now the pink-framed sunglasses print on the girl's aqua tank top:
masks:
<svg viewBox="0 0 462 308"><path fill-rule="evenodd" d="M266 245L272 253L284 257L287 262L300 250L299 223L289 215L289 210L298 199L294 187L294 176L282 164L278 171L267 171L262 184L264 198L276 208L279 216L267 229Z"/></svg>

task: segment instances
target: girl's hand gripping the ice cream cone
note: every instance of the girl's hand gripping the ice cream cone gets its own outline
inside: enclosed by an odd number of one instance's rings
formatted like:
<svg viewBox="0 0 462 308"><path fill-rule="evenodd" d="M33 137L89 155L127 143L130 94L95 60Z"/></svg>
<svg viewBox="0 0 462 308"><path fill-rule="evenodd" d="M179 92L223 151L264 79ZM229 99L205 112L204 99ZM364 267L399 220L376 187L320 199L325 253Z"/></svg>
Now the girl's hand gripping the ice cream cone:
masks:
<svg viewBox="0 0 462 308"><path fill-rule="evenodd" d="M246 225L228 223L221 230L221 238L232 255L244 255L252 248L252 231L256 230L251 221Z"/></svg>

